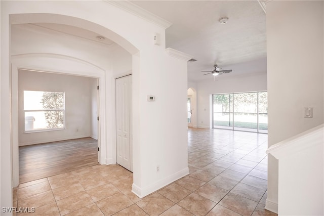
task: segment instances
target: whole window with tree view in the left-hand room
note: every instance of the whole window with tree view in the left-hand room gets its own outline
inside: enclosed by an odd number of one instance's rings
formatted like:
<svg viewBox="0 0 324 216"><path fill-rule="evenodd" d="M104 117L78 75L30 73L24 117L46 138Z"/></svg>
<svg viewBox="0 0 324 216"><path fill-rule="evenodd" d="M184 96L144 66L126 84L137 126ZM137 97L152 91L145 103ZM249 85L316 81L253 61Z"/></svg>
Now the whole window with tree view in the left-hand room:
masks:
<svg viewBox="0 0 324 216"><path fill-rule="evenodd" d="M24 91L25 132L63 129L63 92Z"/></svg>

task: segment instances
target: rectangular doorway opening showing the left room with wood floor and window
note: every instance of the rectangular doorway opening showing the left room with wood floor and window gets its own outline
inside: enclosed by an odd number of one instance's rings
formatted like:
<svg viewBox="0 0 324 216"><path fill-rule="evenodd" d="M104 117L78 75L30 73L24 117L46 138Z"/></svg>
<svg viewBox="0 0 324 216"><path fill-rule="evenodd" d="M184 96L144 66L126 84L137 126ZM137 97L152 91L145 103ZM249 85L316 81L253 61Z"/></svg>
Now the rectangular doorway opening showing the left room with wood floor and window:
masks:
<svg viewBox="0 0 324 216"><path fill-rule="evenodd" d="M18 70L20 184L98 164L98 81Z"/></svg>

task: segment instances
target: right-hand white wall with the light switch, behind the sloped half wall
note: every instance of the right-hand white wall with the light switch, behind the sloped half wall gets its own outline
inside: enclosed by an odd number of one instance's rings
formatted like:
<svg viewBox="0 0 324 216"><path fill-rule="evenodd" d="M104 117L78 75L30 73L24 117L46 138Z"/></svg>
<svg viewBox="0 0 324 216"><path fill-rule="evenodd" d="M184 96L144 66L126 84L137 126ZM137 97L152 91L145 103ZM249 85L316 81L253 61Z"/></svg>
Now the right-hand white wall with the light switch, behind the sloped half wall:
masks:
<svg viewBox="0 0 324 216"><path fill-rule="evenodd" d="M323 1L267 3L269 147L323 123L323 11ZM303 117L304 107L313 118ZM278 163L270 155L266 208L277 205Z"/></svg>

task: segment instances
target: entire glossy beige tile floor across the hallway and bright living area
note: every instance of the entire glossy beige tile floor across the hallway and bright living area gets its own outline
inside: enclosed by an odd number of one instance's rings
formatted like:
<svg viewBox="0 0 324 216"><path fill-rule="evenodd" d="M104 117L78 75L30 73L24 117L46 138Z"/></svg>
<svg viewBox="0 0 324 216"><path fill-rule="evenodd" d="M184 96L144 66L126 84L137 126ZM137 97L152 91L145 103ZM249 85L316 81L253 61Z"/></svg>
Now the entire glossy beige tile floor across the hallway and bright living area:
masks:
<svg viewBox="0 0 324 216"><path fill-rule="evenodd" d="M142 199L133 174L95 165L14 188L17 215L276 215L267 197L267 135L188 129L190 174Z"/></svg>

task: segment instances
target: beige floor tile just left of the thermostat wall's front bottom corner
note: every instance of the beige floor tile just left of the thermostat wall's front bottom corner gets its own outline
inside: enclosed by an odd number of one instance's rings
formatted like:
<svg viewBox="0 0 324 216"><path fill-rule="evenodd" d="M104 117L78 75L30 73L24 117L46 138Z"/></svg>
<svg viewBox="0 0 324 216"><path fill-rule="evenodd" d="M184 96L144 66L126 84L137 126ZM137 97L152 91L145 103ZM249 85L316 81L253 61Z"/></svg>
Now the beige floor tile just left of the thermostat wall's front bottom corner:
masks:
<svg viewBox="0 0 324 216"><path fill-rule="evenodd" d="M96 202L96 204L105 215L111 215L134 204L134 202L124 194L117 193Z"/></svg>

